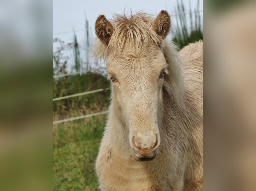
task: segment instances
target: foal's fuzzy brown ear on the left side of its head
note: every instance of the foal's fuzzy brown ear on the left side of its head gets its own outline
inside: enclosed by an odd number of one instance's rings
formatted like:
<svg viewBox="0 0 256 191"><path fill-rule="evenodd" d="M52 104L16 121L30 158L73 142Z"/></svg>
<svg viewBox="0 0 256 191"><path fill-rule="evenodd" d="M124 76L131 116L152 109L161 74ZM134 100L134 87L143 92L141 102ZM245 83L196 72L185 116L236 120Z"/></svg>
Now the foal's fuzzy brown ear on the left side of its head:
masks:
<svg viewBox="0 0 256 191"><path fill-rule="evenodd" d="M112 24L104 15L100 15L95 22L95 33L100 41L108 46L110 37L113 33Z"/></svg>

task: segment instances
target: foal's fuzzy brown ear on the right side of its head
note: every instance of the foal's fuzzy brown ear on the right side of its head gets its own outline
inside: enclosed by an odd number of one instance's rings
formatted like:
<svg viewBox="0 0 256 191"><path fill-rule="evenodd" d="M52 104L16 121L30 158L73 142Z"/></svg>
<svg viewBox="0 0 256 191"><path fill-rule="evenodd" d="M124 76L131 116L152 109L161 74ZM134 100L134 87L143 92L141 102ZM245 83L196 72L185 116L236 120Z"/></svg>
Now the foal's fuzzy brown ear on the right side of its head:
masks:
<svg viewBox="0 0 256 191"><path fill-rule="evenodd" d="M152 24L152 29L156 32L157 35L164 39L171 28L171 18L167 11L162 10L154 20Z"/></svg>

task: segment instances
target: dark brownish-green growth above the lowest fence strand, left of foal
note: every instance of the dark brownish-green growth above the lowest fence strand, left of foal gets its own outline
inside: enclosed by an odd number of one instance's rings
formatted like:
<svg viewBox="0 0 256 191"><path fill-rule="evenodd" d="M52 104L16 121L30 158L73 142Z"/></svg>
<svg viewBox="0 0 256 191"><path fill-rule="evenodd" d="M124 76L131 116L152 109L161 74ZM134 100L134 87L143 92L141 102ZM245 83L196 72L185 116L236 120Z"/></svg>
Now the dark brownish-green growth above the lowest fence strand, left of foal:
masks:
<svg viewBox="0 0 256 191"><path fill-rule="evenodd" d="M88 72L53 81L53 98L109 87L106 76ZM53 101L53 120L107 110L110 90Z"/></svg>

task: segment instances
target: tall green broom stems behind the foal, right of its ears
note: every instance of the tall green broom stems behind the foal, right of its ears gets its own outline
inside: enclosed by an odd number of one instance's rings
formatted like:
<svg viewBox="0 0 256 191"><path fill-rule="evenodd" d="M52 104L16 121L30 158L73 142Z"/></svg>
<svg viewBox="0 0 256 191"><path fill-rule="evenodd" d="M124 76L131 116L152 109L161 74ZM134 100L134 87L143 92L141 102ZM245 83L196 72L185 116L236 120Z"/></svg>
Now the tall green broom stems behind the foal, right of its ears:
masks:
<svg viewBox="0 0 256 191"><path fill-rule="evenodd" d="M183 1L180 2L177 0L177 8L175 7L175 15L177 25L174 27L173 39L179 49L182 49L184 46L189 43L194 43L204 38L203 27L201 25L201 17L199 12L199 0L197 3L197 8L194 12L191 9L191 4L189 1L189 11L187 12ZM188 28L186 13L189 13L189 24Z"/></svg>

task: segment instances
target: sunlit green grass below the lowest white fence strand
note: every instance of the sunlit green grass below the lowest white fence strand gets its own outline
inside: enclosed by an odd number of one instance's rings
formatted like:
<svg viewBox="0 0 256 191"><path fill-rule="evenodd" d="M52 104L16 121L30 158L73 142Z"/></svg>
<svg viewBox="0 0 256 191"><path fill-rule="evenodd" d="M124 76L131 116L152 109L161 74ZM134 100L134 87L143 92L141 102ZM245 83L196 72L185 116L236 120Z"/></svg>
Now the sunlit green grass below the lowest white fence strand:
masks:
<svg viewBox="0 0 256 191"><path fill-rule="evenodd" d="M53 190L98 190L94 164L106 116L53 126Z"/></svg>

